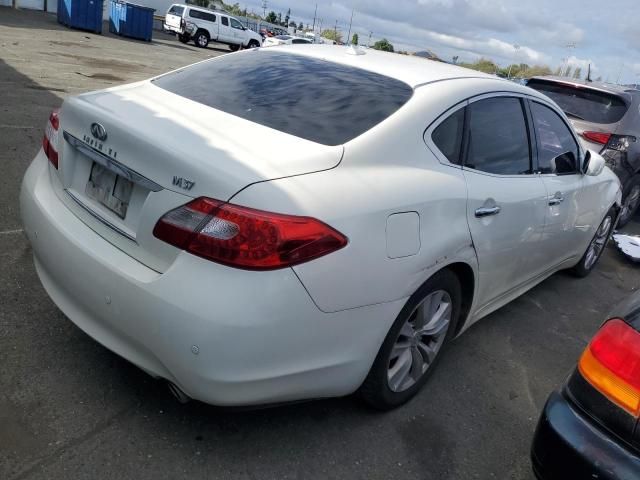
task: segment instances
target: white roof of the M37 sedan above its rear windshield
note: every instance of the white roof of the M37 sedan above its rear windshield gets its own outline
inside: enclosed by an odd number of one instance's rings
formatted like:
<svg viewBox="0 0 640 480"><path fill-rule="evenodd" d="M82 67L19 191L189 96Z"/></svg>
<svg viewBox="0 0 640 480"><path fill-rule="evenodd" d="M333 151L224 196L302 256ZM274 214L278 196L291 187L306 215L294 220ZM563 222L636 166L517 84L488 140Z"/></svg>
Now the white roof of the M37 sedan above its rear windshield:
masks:
<svg viewBox="0 0 640 480"><path fill-rule="evenodd" d="M358 54L354 54L353 47L342 45L312 44L312 45L283 45L280 52L306 55L331 62L336 62L353 67L359 67L417 87L421 84L431 83L453 78L488 78L497 80L498 77L486 73L458 67L442 62L434 62L425 58L412 55L381 52L371 48L358 48ZM506 82L505 83L511 83ZM517 87L516 84L513 84Z"/></svg>

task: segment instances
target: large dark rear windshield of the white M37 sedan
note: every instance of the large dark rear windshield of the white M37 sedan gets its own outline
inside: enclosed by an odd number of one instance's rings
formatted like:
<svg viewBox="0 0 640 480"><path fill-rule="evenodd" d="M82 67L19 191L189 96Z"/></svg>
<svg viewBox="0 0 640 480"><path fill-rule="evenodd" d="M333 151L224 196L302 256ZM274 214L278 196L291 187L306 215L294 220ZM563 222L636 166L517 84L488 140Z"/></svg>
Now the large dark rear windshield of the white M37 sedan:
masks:
<svg viewBox="0 0 640 480"><path fill-rule="evenodd" d="M172 93L324 145L382 122L413 89L399 80L303 55L250 50L154 80Z"/></svg>

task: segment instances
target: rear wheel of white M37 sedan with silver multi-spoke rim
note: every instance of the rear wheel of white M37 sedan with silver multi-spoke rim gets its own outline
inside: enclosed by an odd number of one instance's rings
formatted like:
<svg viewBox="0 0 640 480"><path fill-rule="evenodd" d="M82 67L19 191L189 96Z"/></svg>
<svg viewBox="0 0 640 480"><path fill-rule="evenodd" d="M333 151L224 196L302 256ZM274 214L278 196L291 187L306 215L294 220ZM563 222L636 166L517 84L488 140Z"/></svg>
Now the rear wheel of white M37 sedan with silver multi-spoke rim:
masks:
<svg viewBox="0 0 640 480"><path fill-rule="evenodd" d="M449 270L436 273L411 296L360 387L365 402L390 410L420 391L455 334L461 299L458 277Z"/></svg>

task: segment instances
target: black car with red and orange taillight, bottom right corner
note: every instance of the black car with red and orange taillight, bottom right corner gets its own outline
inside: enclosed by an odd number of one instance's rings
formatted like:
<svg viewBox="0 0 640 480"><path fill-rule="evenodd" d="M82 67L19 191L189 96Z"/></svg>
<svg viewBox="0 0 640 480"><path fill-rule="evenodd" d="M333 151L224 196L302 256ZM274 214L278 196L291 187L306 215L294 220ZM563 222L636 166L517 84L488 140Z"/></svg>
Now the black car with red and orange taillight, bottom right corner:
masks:
<svg viewBox="0 0 640 480"><path fill-rule="evenodd" d="M640 478L640 294L610 316L544 407L531 451L541 480Z"/></svg>

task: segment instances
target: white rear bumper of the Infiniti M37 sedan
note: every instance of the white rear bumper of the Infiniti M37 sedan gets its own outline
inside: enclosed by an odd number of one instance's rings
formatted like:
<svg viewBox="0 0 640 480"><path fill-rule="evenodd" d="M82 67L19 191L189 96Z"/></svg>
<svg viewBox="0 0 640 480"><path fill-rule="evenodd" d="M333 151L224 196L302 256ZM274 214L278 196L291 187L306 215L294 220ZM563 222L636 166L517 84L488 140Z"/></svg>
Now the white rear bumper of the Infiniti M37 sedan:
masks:
<svg viewBox="0 0 640 480"><path fill-rule="evenodd" d="M40 152L20 193L45 290L87 334L192 398L252 405L349 394L404 304L326 314L291 269L248 272L184 252L157 273L80 221L49 175Z"/></svg>

